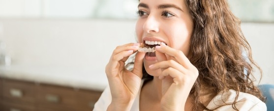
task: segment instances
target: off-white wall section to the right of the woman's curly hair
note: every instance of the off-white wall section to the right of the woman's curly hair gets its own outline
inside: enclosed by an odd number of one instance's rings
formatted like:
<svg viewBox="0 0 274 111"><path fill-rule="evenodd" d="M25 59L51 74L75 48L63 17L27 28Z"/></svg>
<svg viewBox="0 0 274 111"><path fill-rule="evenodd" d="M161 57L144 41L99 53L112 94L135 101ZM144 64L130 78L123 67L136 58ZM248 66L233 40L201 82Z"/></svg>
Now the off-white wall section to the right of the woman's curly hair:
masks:
<svg viewBox="0 0 274 111"><path fill-rule="evenodd" d="M274 84L274 23L243 23L242 30L253 59L263 70L261 83Z"/></svg>

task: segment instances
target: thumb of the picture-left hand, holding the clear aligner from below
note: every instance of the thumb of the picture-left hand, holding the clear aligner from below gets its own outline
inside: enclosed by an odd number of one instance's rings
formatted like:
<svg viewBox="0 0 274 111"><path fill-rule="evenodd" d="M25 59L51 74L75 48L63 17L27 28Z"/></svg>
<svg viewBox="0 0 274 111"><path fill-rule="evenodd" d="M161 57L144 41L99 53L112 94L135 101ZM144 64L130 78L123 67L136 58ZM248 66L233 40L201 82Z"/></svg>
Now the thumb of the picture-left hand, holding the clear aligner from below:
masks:
<svg viewBox="0 0 274 111"><path fill-rule="evenodd" d="M143 59L145 56L145 52L137 52L134 60L134 67L132 72L137 74L140 78L143 76L142 67L143 67Z"/></svg>

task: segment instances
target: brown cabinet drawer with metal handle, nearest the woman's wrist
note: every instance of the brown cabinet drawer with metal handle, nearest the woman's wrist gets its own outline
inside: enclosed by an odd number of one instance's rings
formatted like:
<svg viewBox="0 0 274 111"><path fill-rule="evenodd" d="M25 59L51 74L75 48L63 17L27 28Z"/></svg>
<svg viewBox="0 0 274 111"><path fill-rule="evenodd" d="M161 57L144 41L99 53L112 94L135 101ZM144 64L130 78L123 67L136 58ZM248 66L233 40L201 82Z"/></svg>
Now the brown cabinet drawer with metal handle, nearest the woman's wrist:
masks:
<svg viewBox="0 0 274 111"><path fill-rule="evenodd" d="M51 85L40 85L37 91L39 111L92 111L102 93Z"/></svg>

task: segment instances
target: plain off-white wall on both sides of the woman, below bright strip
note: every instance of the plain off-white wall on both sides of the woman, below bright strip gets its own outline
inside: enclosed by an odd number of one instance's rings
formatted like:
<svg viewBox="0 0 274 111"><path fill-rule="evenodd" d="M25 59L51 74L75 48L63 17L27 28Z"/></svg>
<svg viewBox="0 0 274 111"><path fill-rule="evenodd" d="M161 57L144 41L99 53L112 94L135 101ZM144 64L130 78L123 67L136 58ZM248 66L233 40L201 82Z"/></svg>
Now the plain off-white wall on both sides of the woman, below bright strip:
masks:
<svg viewBox="0 0 274 111"><path fill-rule="evenodd" d="M85 67L94 76L117 45L135 42L135 21L1 19L13 65ZM263 69L261 84L274 84L274 24L243 23L253 58Z"/></svg>

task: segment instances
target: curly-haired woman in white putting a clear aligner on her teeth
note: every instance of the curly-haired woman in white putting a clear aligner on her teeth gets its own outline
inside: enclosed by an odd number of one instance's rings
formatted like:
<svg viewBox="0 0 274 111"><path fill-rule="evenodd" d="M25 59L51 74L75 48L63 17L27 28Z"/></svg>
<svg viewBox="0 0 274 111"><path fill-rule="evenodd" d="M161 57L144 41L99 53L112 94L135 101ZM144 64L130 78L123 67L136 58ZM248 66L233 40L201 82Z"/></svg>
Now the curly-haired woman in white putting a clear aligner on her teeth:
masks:
<svg viewBox="0 0 274 111"><path fill-rule="evenodd" d="M226 0L139 0L138 10L138 43L113 51L94 111L266 111Z"/></svg>

